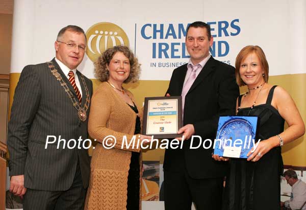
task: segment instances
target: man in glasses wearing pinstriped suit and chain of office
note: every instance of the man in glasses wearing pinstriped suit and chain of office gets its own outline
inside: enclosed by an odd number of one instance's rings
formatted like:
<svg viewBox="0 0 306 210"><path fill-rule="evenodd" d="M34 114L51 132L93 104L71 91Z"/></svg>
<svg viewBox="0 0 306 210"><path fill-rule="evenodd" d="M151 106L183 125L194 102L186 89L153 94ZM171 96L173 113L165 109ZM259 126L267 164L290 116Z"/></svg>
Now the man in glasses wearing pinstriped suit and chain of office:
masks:
<svg viewBox="0 0 306 210"><path fill-rule="evenodd" d="M23 209L83 209L89 182L87 145L80 139L88 137L92 82L77 70L86 50L83 29L63 28L55 50L52 61L25 66L15 90L10 191L23 197Z"/></svg>

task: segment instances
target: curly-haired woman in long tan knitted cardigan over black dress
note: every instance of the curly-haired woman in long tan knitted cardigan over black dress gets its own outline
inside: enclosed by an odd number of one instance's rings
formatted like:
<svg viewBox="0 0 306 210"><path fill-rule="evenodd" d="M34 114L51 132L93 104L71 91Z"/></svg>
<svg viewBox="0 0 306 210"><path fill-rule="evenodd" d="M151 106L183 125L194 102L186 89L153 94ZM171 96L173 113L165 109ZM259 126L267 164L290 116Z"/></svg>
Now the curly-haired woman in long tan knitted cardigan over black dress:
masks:
<svg viewBox="0 0 306 210"><path fill-rule="evenodd" d="M95 76L102 83L92 96L88 131L98 144L92 154L85 209L140 208L140 148L127 145L134 134L136 144L138 138L149 136L139 134L141 113L133 94L122 87L136 82L139 73L140 64L126 46L106 50L95 62ZM110 145L114 147L108 149Z"/></svg>

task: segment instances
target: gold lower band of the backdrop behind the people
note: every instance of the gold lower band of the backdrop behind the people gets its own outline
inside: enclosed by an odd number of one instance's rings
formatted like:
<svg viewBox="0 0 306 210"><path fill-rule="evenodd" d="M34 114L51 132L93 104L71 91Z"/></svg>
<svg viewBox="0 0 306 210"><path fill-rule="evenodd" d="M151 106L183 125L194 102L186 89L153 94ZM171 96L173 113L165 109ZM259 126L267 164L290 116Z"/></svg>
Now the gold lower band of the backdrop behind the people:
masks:
<svg viewBox="0 0 306 210"><path fill-rule="evenodd" d="M10 104L9 113L11 111L13 95L17 81L19 80L19 73L10 74ZM95 89L99 85L99 81L92 79L93 88ZM277 84L285 88L295 101L303 121L306 122L306 74L295 74L295 75L280 75L270 76L269 83ZM169 81L153 81L153 80L142 80L134 84L127 84L124 87L133 92L136 103L142 105L145 97L164 96L168 88ZM242 87L240 92L245 92L246 88ZM285 128L287 125L285 125ZM283 159L285 165L293 166L306 166L306 140L305 135L296 139L294 142L285 145L283 147ZM90 150L91 154L92 151ZM164 150L150 150L143 153L144 160L163 160Z"/></svg>

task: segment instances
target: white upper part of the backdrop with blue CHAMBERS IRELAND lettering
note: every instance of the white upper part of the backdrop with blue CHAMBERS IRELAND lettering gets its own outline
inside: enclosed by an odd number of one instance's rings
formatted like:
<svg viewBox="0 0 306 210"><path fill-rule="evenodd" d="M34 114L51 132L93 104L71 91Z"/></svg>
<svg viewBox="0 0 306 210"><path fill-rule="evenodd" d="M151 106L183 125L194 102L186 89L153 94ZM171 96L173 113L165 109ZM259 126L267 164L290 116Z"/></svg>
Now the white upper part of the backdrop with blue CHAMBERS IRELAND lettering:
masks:
<svg viewBox="0 0 306 210"><path fill-rule="evenodd" d="M19 7L23 2L16 0L14 6L12 73L21 72L24 65L52 59L54 41L61 28L78 25L86 32L99 22L110 22L125 32L131 49L142 63L141 80L169 80L175 67L188 62L184 43L186 28L196 20L211 25L214 36L211 54L222 62L235 65L238 52L245 45L253 44L260 45L266 53L270 75L306 73L304 65L293 68L291 62L301 61L299 56L305 54L301 33L306 26L298 24L305 20L294 19L290 13L293 8L299 12L299 18L304 17L306 8L299 7L305 4L303 1L293 4L288 0L154 3L29 0L27 7ZM20 24L22 19L28 20L28 25ZM290 22L295 23L295 28L290 27ZM296 37L294 42L291 34ZM103 36L111 40L110 33ZM302 46L298 46L299 43ZM299 55L293 57L295 50ZM79 69L94 78L93 63L87 56Z"/></svg>

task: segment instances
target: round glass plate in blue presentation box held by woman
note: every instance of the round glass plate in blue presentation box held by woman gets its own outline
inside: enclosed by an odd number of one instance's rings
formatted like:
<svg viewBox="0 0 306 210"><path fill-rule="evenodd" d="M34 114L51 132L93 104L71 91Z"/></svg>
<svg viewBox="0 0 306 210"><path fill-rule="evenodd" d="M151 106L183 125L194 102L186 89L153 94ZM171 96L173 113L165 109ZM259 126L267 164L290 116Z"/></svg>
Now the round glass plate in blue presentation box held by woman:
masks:
<svg viewBox="0 0 306 210"><path fill-rule="evenodd" d="M247 158L256 143L258 116L220 116L214 154Z"/></svg>

